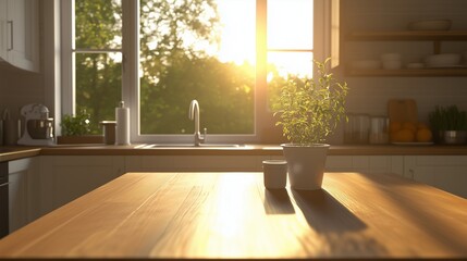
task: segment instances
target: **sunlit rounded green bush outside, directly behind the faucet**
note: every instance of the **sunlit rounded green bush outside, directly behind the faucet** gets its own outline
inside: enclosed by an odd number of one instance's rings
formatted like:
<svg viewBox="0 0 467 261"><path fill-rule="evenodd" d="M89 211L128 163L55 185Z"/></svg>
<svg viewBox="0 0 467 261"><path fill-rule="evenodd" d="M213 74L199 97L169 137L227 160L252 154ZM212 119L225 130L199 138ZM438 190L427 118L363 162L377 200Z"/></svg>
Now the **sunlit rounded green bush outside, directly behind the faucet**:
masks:
<svg viewBox="0 0 467 261"><path fill-rule="evenodd" d="M192 99L201 109L209 133L254 132L253 65L222 63L217 59L180 59L165 67L157 85L142 80L142 133L193 133L186 116Z"/></svg>

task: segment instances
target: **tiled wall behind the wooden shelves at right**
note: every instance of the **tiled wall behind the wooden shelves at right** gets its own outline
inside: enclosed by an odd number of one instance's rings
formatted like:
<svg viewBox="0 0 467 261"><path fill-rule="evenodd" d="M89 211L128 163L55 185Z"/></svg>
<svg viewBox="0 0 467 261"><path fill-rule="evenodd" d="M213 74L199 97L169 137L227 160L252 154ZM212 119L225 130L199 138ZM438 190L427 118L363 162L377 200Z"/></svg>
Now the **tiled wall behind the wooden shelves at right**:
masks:
<svg viewBox="0 0 467 261"><path fill-rule="evenodd" d="M453 30L467 29L467 1L464 0L341 0L341 32L405 30L419 20L450 18ZM432 42L346 42L347 61L379 60L384 52L400 52L404 63L432 54ZM443 42L442 52L466 52L465 42ZM347 111L386 115L391 98L413 98L419 121L428 121L434 105L457 104L467 110L467 77L353 77L337 75L348 83ZM342 129L331 138L342 142Z"/></svg>

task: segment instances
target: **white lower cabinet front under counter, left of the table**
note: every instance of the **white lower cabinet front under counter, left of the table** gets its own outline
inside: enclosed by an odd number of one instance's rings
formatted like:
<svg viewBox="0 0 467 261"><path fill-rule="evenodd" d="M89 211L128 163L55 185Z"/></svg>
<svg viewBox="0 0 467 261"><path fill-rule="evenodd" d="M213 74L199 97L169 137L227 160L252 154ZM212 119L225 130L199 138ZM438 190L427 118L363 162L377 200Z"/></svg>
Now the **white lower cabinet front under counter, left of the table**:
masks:
<svg viewBox="0 0 467 261"><path fill-rule="evenodd" d="M47 213L125 172L123 156L42 156L41 210Z"/></svg>

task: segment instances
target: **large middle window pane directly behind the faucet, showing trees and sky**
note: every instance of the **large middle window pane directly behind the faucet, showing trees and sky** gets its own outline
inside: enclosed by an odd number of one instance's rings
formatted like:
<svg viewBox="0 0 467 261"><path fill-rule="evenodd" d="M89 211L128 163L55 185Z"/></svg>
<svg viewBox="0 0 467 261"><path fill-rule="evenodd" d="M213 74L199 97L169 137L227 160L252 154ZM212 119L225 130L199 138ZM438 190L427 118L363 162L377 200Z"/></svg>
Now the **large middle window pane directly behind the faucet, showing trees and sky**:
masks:
<svg viewBox="0 0 467 261"><path fill-rule="evenodd" d="M140 134L253 134L255 1L140 3ZM238 20L238 14L242 18Z"/></svg>

